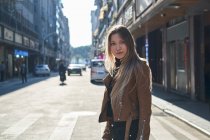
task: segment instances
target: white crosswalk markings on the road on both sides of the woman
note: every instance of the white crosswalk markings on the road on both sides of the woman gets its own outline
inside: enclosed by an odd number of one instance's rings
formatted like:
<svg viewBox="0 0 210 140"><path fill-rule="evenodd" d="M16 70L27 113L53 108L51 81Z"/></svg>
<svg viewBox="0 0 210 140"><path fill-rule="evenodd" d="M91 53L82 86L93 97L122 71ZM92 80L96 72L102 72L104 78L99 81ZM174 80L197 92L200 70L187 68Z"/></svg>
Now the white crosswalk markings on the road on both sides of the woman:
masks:
<svg viewBox="0 0 210 140"><path fill-rule="evenodd" d="M47 117L42 113L31 113L24 116L22 119L16 120L15 122L8 121L7 126L1 126L1 122L3 120L7 121L9 116L2 113L0 114L0 140L28 140L29 138L30 140L73 140L71 138L77 121L80 116L84 117L85 114L88 114L88 112L70 112L60 114L56 121L51 122L52 125L48 124L48 127L51 128L45 130L45 127L42 127L41 125L39 126L39 124L44 125L43 123L45 122L43 119L46 119ZM96 115L96 113L89 113L89 115ZM101 123L99 125L101 133L98 135L102 136L104 127L105 123ZM40 135L38 135L38 133L34 133L30 136L31 131L33 132L35 128L39 129ZM207 139L208 138L203 138L202 140ZM165 117L152 116L150 140L200 140L200 136L194 134L192 131L184 129L179 125L174 124L168 119L165 119Z"/></svg>

